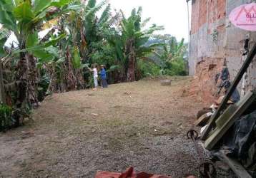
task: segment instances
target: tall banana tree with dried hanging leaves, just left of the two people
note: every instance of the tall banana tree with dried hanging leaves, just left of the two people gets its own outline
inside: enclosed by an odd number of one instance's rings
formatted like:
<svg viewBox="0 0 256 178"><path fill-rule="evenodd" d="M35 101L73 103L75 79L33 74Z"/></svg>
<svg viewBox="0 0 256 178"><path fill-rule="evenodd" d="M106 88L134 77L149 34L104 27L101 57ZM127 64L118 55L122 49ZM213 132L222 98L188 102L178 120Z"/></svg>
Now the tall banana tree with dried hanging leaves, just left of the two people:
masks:
<svg viewBox="0 0 256 178"><path fill-rule="evenodd" d="M88 1L86 6L79 11L71 11L63 14L59 19L59 31L66 33L67 38L59 42L59 50L65 58L64 83L65 90L84 88L83 63L90 63L89 54L92 53L92 43L102 40L99 37L99 22L105 22L108 11L105 10L100 21L97 21L96 13L102 9L106 2L96 4L96 1ZM73 1L74 5L81 5L81 1ZM109 9L109 8L107 8ZM104 17L104 18L103 18ZM82 58L82 61L81 61Z"/></svg>

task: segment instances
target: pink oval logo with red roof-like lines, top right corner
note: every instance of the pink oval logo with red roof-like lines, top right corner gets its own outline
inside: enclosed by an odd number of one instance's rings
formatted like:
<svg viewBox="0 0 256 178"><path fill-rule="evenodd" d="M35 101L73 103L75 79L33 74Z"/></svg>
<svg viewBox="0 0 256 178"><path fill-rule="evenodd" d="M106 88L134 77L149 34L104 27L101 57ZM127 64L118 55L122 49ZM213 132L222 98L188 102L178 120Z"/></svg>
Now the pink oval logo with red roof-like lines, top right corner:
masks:
<svg viewBox="0 0 256 178"><path fill-rule="evenodd" d="M256 31L256 3L238 6L230 13L230 21L238 28Z"/></svg>

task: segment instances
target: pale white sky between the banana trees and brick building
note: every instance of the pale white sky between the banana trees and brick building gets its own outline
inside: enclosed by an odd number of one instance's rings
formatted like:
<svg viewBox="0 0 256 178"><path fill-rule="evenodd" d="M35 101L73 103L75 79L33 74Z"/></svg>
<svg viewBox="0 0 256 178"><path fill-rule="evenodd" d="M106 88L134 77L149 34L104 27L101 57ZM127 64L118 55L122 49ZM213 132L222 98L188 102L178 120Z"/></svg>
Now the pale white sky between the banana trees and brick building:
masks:
<svg viewBox="0 0 256 178"><path fill-rule="evenodd" d="M113 9L122 9L126 16L131 14L134 7L142 6L142 17L151 17L149 23L164 26L164 31L175 36L178 40L188 39L187 2L186 0L109 0Z"/></svg>

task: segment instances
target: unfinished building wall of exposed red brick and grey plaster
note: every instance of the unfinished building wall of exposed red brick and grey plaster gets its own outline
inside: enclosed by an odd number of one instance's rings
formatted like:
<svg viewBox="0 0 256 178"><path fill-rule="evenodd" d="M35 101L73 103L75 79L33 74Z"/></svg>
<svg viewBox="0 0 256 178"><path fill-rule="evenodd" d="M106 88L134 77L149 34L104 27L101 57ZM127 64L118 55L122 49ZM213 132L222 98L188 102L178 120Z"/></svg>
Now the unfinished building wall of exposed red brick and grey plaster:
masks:
<svg viewBox="0 0 256 178"><path fill-rule="evenodd" d="M256 42L256 33L241 30L229 21L232 9L247 0L192 0L189 75L195 75L202 93L212 95L214 78L226 58L231 79L242 66L245 39ZM246 90L256 85L256 60L247 71ZM241 88L241 85L240 85Z"/></svg>

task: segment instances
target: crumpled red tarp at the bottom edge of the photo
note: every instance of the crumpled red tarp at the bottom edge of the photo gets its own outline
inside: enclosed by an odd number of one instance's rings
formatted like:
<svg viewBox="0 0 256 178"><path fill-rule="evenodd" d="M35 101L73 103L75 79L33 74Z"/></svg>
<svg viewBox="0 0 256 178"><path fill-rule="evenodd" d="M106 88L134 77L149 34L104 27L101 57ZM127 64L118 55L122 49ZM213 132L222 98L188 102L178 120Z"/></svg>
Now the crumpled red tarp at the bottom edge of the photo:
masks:
<svg viewBox="0 0 256 178"><path fill-rule="evenodd" d="M127 169L124 173L115 172L98 172L95 178L172 178L162 175L147 174L146 172L140 172L136 174L133 167Z"/></svg>

